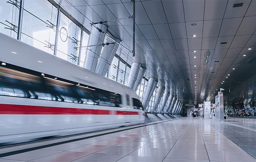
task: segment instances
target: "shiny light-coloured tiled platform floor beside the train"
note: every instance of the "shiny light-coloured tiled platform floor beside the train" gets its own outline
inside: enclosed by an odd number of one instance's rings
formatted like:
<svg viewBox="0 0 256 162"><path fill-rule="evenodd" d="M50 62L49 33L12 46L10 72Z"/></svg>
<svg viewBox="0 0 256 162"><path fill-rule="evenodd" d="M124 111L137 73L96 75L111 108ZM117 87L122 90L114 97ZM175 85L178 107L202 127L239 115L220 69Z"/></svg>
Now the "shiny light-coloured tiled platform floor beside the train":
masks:
<svg viewBox="0 0 256 162"><path fill-rule="evenodd" d="M6 156L0 162L256 162L225 137L223 125L229 124L187 117ZM27 146L13 149L20 147Z"/></svg>

